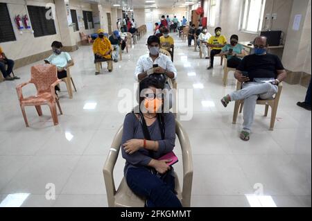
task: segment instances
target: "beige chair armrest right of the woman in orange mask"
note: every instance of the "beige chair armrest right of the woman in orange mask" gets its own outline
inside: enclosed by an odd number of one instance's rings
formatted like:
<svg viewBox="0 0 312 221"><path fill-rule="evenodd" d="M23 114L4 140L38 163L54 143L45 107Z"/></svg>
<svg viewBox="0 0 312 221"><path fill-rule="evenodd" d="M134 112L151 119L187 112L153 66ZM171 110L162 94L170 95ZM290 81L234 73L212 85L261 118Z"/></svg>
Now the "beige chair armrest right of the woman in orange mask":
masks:
<svg viewBox="0 0 312 221"><path fill-rule="evenodd" d="M191 189L193 182L193 159L189 136L182 125L175 120L175 133L179 138L182 148L183 160L183 186L182 186L182 205L189 207L191 204Z"/></svg>

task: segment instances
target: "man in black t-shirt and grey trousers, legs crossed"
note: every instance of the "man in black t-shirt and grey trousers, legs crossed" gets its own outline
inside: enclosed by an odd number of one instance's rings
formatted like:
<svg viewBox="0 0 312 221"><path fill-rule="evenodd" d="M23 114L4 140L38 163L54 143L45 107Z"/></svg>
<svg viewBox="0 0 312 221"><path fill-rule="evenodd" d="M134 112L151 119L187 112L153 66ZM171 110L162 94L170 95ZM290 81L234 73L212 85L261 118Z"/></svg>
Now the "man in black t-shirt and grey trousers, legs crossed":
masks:
<svg viewBox="0 0 312 221"><path fill-rule="evenodd" d="M242 89L227 94L221 99L225 107L230 101L244 100L243 130L240 138L249 141L254 108L257 99L269 99L277 93L277 85L286 78L281 60L277 55L266 53L268 49L266 37L254 39L254 54L247 55L236 68L234 77L242 82Z"/></svg>

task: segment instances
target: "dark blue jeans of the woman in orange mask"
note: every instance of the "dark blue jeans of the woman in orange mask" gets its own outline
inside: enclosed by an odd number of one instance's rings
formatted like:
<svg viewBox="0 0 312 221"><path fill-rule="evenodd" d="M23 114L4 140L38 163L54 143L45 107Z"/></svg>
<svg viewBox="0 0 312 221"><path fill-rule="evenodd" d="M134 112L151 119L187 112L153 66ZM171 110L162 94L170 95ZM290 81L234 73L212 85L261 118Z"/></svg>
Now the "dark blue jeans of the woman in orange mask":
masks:
<svg viewBox="0 0 312 221"><path fill-rule="evenodd" d="M160 179L148 168L129 168L125 179L133 193L146 197L148 207L182 207L175 195L175 177L171 173Z"/></svg>

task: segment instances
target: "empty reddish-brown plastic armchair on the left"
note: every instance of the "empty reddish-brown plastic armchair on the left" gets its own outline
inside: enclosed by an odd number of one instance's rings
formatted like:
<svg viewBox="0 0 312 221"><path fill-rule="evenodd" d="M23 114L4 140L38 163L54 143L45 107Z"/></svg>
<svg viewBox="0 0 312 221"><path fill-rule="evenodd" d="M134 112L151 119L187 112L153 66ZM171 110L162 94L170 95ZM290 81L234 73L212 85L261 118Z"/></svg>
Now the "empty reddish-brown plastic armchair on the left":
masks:
<svg viewBox="0 0 312 221"><path fill-rule="evenodd" d="M28 121L25 112L25 106L35 106L39 116L42 116L41 105L49 105L54 125L58 125L58 114L56 112L56 105L62 114L60 103L55 96L55 85L58 85L61 80L58 79L58 69L52 64L37 64L31 67L31 80L28 82L17 85L16 91L19 98L19 105L21 112L24 116L26 127L28 127ZM21 88L33 83L37 89L37 95L23 97Z"/></svg>

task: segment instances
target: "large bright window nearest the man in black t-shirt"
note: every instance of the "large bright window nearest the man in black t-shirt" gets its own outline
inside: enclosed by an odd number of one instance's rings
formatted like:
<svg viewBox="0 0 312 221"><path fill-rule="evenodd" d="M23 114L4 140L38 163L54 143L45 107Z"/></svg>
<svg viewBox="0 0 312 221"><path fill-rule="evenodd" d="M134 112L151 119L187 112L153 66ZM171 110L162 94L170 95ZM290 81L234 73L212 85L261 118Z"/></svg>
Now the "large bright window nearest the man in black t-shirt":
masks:
<svg viewBox="0 0 312 221"><path fill-rule="evenodd" d="M257 33L262 28L266 0L245 0L241 11L240 30Z"/></svg>

